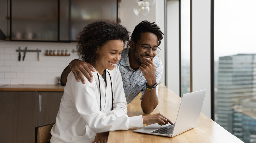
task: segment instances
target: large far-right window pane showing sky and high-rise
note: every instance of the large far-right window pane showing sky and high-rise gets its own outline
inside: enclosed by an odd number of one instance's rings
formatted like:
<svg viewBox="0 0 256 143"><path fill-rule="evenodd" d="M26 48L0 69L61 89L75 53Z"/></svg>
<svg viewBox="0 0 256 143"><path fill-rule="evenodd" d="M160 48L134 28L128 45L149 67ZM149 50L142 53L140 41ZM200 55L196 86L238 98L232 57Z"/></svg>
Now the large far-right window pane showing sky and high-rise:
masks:
<svg viewBox="0 0 256 143"><path fill-rule="evenodd" d="M256 1L214 3L215 121L250 143L256 136Z"/></svg>

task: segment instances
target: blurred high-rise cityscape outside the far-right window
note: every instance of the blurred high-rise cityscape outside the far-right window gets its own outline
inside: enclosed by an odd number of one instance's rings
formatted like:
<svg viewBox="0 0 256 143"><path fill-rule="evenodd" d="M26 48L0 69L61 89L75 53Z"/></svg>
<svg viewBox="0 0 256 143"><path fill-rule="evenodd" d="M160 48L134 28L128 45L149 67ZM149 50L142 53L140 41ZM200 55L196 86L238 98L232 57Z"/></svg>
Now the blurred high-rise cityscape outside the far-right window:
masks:
<svg viewBox="0 0 256 143"><path fill-rule="evenodd" d="M215 121L244 142L256 135L256 54L219 57Z"/></svg>

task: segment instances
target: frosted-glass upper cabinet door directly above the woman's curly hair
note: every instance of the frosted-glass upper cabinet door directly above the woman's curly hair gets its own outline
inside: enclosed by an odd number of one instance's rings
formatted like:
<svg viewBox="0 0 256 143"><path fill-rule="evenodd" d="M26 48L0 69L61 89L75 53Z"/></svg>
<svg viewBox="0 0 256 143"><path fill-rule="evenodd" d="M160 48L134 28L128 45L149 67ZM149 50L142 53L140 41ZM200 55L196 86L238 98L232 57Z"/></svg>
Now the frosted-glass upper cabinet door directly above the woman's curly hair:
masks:
<svg viewBox="0 0 256 143"><path fill-rule="evenodd" d="M86 25L97 20L117 22L117 0L61 0L60 41L75 41Z"/></svg>

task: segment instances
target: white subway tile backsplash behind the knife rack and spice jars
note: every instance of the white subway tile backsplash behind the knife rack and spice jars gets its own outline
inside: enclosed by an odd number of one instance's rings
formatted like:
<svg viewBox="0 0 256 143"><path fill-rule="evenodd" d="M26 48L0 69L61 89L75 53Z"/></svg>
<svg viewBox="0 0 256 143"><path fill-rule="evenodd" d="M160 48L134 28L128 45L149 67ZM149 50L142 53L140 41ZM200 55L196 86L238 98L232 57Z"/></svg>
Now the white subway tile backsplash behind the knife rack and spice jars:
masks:
<svg viewBox="0 0 256 143"><path fill-rule="evenodd" d="M57 84L55 79L73 59L78 59L76 42L52 43L52 42L19 42L0 41L0 84ZM21 52L21 61L18 61L20 47L24 50L41 50L40 60L37 61L36 52L27 52L25 60L22 61L24 52ZM46 50L65 50L70 56L45 56Z"/></svg>

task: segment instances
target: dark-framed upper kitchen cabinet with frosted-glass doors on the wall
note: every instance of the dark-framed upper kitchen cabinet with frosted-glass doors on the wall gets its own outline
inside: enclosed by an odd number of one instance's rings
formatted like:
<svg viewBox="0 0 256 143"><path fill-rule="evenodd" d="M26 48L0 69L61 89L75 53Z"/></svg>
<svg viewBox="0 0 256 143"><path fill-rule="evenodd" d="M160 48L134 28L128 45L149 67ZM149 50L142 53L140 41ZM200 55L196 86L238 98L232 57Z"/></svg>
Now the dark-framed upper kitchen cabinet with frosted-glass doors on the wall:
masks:
<svg viewBox="0 0 256 143"><path fill-rule="evenodd" d="M87 24L117 22L117 0L11 0L11 40L75 41Z"/></svg>

